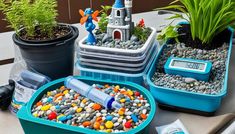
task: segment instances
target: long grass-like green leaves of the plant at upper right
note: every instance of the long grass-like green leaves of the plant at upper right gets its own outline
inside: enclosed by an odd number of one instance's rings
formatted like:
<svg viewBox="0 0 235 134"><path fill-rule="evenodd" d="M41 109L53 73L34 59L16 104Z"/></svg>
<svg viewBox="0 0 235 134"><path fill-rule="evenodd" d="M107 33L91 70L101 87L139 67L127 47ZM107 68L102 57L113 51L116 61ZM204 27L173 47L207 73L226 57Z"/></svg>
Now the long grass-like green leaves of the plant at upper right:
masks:
<svg viewBox="0 0 235 134"><path fill-rule="evenodd" d="M180 2L182 5L174 5ZM177 9L186 14L174 18L183 18L190 23L192 38L200 39L204 44L235 22L234 0L175 0L169 6L159 9Z"/></svg>

